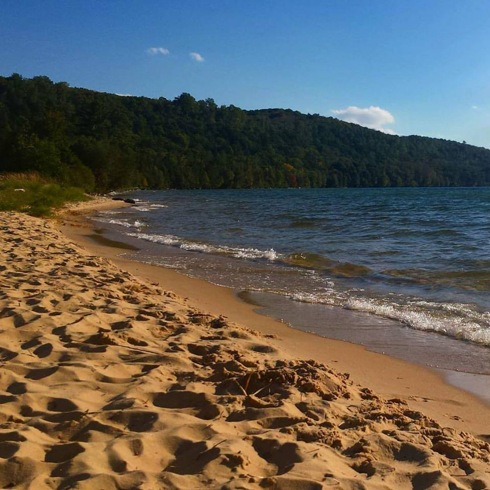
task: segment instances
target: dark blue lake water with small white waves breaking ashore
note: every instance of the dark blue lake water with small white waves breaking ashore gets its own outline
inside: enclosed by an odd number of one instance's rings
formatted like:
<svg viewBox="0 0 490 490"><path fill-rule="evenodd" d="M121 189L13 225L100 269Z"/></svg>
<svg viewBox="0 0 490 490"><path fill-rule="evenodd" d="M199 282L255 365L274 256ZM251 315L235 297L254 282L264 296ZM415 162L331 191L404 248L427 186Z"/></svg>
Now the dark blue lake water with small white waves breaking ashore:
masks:
<svg viewBox="0 0 490 490"><path fill-rule="evenodd" d="M125 197L139 205L93 219L136 244L137 260L252 291L297 328L490 373L490 188Z"/></svg>

